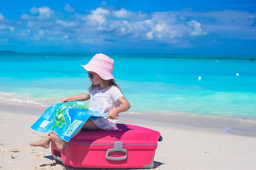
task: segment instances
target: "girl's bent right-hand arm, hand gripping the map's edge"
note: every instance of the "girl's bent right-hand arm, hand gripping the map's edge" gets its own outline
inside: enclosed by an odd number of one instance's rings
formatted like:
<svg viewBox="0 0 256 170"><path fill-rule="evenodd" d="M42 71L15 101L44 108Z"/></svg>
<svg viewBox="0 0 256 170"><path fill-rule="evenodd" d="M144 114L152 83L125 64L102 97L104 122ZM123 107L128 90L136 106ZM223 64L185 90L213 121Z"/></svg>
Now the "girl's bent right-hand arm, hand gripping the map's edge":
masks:
<svg viewBox="0 0 256 170"><path fill-rule="evenodd" d="M130 103L125 99L125 97L120 97L118 99L118 101L121 103L121 106L111 109L108 112L108 116L106 118L107 120L108 120L108 118L114 119L118 113L128 111L131 108Z"/></svg>

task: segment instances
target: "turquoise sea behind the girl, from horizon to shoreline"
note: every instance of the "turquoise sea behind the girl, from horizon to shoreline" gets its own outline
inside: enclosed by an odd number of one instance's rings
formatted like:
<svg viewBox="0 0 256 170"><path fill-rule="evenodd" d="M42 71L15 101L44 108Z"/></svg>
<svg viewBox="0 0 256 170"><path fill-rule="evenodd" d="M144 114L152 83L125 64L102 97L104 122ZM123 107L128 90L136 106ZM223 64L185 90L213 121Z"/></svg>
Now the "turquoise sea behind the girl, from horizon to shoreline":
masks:
<svg viewBox="0 0 256 170"><path fill-rule="evenodd" d="M90 81L81 65L93 55L0 54L0 103L49 106L86 93ZM256 57L107 55L115 61L113 75L131 103L131 114L173 123L180 115L184 120L214 119L216 124L228 119L247 130L256 124L256 62L250 60Z"/></svg>

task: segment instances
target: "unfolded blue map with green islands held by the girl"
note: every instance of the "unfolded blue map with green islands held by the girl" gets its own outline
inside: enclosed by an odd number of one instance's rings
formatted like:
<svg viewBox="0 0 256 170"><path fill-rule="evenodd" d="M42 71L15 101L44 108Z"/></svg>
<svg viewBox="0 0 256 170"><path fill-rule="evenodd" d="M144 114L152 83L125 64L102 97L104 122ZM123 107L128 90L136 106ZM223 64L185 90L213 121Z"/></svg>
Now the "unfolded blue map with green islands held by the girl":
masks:
<svg viewBox="0 0 256 170"><path fill-rule="evenodd" d="M47 108L31 129L47 133L52 130L58 133L59 138L69 142L91 116L107 115L108 113L90 111L83 102L56 103Z"/></svg>

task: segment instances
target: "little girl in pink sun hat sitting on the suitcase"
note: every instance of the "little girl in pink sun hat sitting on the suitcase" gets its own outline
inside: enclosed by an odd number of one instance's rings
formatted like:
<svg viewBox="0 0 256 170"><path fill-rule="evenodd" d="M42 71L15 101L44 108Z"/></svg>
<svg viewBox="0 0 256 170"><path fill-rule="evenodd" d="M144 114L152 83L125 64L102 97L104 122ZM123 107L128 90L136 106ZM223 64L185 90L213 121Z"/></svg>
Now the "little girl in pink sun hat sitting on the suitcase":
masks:
<svg viewBox="0 0 256 170"><path fill-rule="evenodd" d="M89 109L99 113L108 113L107 117L90 117L81 129L85 130L117 130L116 122L119 113L131 107L116 85L112 74L114 60L104 54L96 54L87 65L81 65L88 71L92 85L86 94L64 97L61 102L85 101L90 99ZM120 105L121 104L121 105ZM74 135L76 136L81 129ZM30 143L34 147L48 148L53 140L58 149L63 149L64 141L58 134L50 130L49 135L37 142Z"/></svg>

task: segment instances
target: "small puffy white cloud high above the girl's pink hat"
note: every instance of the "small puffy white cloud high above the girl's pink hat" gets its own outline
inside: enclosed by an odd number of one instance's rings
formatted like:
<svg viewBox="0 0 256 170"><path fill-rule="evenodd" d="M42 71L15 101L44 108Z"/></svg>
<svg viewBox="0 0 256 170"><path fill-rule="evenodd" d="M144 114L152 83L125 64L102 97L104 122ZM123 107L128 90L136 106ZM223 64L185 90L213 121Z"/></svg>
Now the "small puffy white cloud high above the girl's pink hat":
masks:
<svg viewBox="0 0 256 170"><path fill-rule="evenodd" d="M94 24L102 25L107 20L106 17L108 16L109 11L104 8L96 8L96 10L92 10L91 13L92 14L87 16L87 19Z"/></svg>

